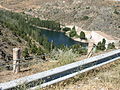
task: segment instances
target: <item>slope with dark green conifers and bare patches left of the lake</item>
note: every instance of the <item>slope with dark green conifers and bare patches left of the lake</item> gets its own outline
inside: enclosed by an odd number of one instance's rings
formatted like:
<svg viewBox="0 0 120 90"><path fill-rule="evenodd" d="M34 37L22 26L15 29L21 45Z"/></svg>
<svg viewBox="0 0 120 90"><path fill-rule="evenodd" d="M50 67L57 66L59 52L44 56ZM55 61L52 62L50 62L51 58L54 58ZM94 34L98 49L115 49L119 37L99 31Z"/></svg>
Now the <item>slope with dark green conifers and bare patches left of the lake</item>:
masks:
<svg viewBox="0 0 120 90"><path fill-rule="evenodd" d="M32 24L50 29L59 28L59 24L54 21L39 20L23 13L0 9L0 65L10 63L12 49L16 47L22 49L24 58L43 55L50 51L50 42L41 35L41 29L37 29Z"/></svg>

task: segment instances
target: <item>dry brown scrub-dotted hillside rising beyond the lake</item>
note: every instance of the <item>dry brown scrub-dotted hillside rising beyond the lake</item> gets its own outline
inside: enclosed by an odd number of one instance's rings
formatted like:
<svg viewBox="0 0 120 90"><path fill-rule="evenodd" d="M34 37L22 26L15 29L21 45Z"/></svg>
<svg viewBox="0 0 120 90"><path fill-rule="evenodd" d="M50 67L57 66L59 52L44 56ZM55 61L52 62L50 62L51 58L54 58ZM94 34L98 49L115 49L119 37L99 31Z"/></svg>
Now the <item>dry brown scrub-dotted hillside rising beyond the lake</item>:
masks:
<svg viewBox="0 0 120 90"><path fill-rule="evenodd" d="M75 24L85 30L101 30L120 37L120 2L112 0L1 0L0 4L42 19Z"/></svg>

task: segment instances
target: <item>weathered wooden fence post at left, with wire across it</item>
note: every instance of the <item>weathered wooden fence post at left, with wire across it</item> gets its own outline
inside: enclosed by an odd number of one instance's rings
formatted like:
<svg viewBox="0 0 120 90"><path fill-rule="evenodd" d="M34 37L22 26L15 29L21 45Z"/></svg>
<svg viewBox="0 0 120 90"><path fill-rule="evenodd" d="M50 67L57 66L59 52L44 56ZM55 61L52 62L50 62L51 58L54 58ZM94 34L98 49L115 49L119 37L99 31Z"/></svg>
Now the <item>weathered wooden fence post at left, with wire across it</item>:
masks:
<svg viewBox="0 0 120 90"><path fill-rule="evenodd" d="M18 73L20 71L20 56L21 50L20 48L13 48L13 72Z"/></svg>

